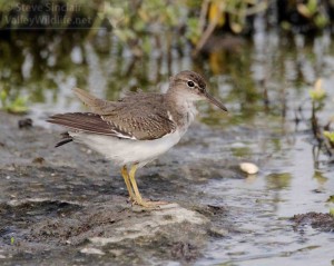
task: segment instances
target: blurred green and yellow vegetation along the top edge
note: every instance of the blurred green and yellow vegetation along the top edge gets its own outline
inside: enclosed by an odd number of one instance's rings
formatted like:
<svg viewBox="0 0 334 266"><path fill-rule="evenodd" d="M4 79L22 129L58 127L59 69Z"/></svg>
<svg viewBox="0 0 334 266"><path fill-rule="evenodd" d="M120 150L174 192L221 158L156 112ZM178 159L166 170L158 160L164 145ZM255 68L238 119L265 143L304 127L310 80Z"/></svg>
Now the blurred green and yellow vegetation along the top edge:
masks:
<svg viewBox="0 0 334 266"><path fill-rule="evenodd" d="M266 27L310 33L331 26L333 9L333 1L318 0L2 0L0 29L86 29L92 36L102 27L139 48L147 46L145 36L171 31L184 35L199 50L215 31L253 32L257 14Z"/></svg>

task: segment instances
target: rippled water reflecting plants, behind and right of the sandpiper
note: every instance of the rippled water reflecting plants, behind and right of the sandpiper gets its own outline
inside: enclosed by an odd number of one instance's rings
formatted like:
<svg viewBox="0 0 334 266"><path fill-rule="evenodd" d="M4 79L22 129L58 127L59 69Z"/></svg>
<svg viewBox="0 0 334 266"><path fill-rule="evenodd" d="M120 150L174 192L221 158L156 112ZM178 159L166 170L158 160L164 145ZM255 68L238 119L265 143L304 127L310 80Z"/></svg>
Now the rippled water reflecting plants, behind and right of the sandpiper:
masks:
<svg viewBox="0 0 334 266"><path fill-rule="evenodd" d="M219 43L225 42L232 45L196 60L190 49L184 55L153 51L135 59L109 35L82 41L76 35L22 33L0 41L0 89L24 98L35 122L49 127L43 121L49 114L85 109L73 97L73 87L117 99L137 88L164 91L168 77L184 69L203 72L229 116L203 102L199 121L229 135L203 140L205 152L195 147L190 154L183 148L175 152L185 152L187 160L214 160L222 169L252 161L261 171L194 185L204 195L202 203L228 206L240 231L212 239L196 264L333 265L333 233L294 230L287 219L333 208L326 200L334 194L334 166L324 152L314 158L310 120L310 90L318 78L327 92L317 112L320 122L325 125L334 114L333 40L327 35L307 40L259 31L250 40L227 37Z"/></svg>

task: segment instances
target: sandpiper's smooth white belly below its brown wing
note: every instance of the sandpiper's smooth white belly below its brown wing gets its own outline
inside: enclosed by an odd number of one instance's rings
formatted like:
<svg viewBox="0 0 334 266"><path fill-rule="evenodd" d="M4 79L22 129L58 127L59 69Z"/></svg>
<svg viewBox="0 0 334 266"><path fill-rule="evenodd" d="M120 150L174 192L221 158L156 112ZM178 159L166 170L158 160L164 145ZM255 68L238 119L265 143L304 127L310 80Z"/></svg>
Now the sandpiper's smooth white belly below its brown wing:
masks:
<svg viewBox="0 0 334 266"><path fill-rule="evenodd" d="M86 132L69 132L69 135L75 141L87 145L119 166L139 162L138 167L143 167L175 146L183 132L177 130L155 140L119 139Z"/></svg>

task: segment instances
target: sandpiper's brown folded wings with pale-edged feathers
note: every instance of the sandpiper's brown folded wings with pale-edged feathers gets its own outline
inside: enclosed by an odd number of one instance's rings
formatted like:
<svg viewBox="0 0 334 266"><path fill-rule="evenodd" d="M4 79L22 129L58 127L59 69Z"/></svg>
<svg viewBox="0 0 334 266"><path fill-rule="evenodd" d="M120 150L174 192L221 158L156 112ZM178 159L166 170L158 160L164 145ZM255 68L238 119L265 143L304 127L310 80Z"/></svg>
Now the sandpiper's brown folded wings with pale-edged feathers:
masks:
<svg viewBox="0 0 334 266"><path fill-rule="evenodd" d="M164 96L131 93L120 101L100 100L80 89L78 97L95 112L61 114L48 120L75 130L129 139L157 139L176 130Z"/></svg>

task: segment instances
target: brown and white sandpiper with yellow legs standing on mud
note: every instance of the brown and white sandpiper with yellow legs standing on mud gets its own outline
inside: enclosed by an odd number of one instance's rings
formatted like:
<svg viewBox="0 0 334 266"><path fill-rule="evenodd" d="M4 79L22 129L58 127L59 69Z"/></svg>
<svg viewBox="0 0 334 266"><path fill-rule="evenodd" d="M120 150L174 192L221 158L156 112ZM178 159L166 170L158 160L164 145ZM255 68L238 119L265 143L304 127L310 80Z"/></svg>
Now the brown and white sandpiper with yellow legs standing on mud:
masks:
<svg viewBox="0 0 334 266"><path fill-rule="evenodd" d="M118 101L107 101L78 88L73 91L90 112L51 116L49 122L68 129L56 147L73 140L105 155L121 167L131 201L143 207L163 203L141 198L135 179L136 170L180 140L197 114L195 102L206 99L227 111L208 93L204 78L188 70L170 78L166 93L139 91Z"/></svg>

